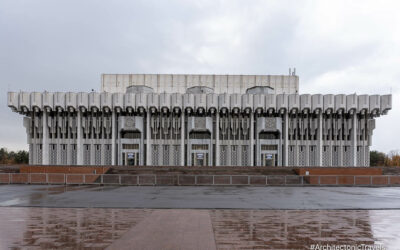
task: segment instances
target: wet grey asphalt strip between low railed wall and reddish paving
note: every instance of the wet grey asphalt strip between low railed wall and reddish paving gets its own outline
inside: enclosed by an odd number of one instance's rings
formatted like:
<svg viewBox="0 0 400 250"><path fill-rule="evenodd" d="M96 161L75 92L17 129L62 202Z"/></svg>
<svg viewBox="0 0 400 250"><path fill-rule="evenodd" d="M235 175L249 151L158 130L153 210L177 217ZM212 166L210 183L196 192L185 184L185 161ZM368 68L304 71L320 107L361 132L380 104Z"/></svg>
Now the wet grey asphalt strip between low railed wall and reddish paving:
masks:
<svg viewBox="0 0 400 250"><path fill-rule="evenodd" d="M400 187L0 185L1 206L178 209L400 209Z"/></svg>

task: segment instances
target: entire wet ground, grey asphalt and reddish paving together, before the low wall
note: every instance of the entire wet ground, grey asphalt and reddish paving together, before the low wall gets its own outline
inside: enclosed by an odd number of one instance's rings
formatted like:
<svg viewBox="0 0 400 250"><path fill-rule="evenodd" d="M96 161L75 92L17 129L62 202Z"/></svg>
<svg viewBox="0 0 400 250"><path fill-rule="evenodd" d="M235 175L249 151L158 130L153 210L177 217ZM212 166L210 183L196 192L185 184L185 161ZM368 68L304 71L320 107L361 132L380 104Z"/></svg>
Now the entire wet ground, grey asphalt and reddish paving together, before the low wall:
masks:
<svg viewBox="0 0 400 250"><path fill-rule="evenodd" d="M395 187L0 185L0 249L400 249L399 225Z"/></svg>

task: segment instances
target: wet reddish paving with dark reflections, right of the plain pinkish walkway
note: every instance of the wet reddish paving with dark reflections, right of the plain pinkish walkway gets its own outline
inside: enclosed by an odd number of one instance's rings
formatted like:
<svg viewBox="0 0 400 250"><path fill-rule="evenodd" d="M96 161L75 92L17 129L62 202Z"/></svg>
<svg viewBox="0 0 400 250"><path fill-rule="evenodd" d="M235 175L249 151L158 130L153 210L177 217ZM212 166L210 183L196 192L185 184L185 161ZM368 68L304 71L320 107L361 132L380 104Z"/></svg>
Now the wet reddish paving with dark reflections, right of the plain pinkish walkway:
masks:
<svg viewBox="0 0 400 250"><path fill-rule="evenodd" d="M393 226L400 223L398 210L213 210L211 220L220 249L400 246L400 226Z"/></svg>

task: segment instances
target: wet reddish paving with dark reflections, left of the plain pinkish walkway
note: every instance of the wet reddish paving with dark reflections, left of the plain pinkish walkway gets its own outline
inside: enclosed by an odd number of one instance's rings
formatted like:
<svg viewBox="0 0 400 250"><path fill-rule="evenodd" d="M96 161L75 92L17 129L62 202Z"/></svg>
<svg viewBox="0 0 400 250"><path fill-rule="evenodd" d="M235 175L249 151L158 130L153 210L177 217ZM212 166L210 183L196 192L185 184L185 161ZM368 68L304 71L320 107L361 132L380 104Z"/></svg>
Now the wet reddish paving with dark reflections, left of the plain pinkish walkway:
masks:
<svg viewBox="0 0 400 250"><path fill-rule="evenodd" d="M151 210L0 208L0 249L104 249Z"/></svg>

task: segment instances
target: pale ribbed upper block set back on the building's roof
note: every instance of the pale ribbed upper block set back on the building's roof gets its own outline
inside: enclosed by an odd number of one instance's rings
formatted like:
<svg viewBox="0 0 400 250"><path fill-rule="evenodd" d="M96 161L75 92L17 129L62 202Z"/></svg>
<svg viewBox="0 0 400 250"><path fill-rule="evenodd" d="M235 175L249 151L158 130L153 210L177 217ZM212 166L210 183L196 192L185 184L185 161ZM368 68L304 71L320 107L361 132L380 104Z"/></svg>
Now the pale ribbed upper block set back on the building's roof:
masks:
<svg viewBox="0 0 400 250"><path fill-rule="evenodd" d="M125 93L129 86L148 86L155 93L186 93L191 87L212 88L215 94L245 94L256 86L268 86L274 94L297 94L297 75L170 75L102 74L101 92Z"/></svg>

